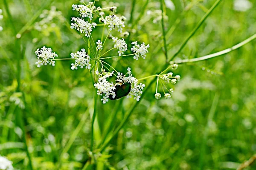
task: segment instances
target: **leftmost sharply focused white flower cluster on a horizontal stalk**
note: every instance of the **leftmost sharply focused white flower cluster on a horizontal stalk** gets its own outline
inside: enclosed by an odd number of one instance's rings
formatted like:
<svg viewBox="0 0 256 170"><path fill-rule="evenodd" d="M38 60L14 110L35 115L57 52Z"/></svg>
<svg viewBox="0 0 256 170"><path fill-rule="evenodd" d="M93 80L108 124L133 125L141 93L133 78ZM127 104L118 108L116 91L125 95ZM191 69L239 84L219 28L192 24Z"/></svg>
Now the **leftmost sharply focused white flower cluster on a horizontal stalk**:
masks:
<svg viewBox="0 0 256 170"><path fill-rule="evenodd" d="M46 48L45 46L41 49L38 48L37 51L35 51L35 54L38 56L38 61L35 62L38 67L41 67L41 65L47 65L48 63L49 65L54 66L55 61L53 61L52 59L58 57L55 52L52 52L51 48Z"/></svg>

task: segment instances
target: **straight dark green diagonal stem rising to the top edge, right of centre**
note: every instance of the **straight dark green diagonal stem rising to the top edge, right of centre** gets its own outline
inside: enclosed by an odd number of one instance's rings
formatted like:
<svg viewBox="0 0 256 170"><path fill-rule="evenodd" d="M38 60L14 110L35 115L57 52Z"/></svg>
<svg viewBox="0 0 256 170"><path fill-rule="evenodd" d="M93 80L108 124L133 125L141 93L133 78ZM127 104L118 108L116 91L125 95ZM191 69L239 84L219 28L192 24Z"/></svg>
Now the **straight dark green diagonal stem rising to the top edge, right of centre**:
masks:
<svg viewBox="0 0 256 170"><path fill-rule="evenodd" d="M202 26L204 21L207 19L207 17L212 13L212 11L218 6L218 4L221 2L221 0L217 0L213 6L209 9L209 11L204 15L204 17L199 21L197 26L193 29L193 31L189 34L189 36L182 42L180 45L180 48L178 51L169 59L169 61L172 61L179 53L180 51L185 47L186 43L190 40L190 38L196 33L198 28Z"/></svg>

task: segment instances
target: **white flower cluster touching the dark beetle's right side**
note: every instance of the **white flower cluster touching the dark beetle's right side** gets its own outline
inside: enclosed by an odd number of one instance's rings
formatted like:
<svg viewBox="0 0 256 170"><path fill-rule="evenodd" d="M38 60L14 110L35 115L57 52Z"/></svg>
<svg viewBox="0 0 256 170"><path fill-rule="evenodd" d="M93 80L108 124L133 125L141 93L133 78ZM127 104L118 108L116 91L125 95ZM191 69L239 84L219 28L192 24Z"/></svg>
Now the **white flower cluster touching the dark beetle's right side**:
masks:
<svg viewBox="0 0 256 170"><path fill-rule="evenodd" d="M138 82L138 79L136 79L135 77L132 76L131 74L131 68L127 68L127 73L128 73L128 77L119 77L118 80L116 81L120 81L122 80L123 82L130 82L131 83L131 91L128 94L127 98L131 98L132 96L134 96L134 99L136 99L137 101L140 100L140 95L143 93L143 89L145 87L144 84ZM118 76L117 76L118 77Z"/></svg>

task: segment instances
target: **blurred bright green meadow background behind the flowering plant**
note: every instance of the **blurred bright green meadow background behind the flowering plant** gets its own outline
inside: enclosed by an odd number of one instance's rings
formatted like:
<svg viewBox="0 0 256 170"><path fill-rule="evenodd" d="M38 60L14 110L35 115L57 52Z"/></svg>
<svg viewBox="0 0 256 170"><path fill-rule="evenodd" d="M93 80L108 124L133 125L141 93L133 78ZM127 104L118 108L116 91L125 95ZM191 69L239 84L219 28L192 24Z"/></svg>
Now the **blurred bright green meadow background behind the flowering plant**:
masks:
<svg viewBox="0 0 256 170"><path fill-rule="evenodd" d="M251 1L251 2L250 2ZM195 58L229 48L256 33L253 0L223 0L189 40L176 59ZM72 61L56 61L37 68L34 54L47 46L59 58L86 48L79 34L70 29L72 4L78 0L6 0L13 20L0 0L0 155L13 161L15 169L29 169L24 134L34 169L79 170L90 162L90 116L94 87L88 70L71 70ZM88 3L88 1L85 1ZM168 54L195 28L215 0L165 0L165 29ZM134 4L134 6L133 6ZM155 74L164 65L160 1L113 0L96 6L118 6L117 14L127 17L124 31L128 47L133 41L150 44L146 59L132 57L109 62L118 71L131 67L135 77ZM55 6L55 7L52 7ZM133 6L133 9L132 9ZM42 28L36 17L45 10L61 11ZM132 13L131 13L132 11ZM46 12L46 11L45 11ZM133 17L132 19L131 16ZM16 33L26 30L16 39ZM15 27L15 30L13 29ZM102 28L92 32L99 39ZM105 35L106 36L106 35ZM107 41L112 48L111 40ZM127 54L130 54L128 51ZM111 52L115 56L117 51ZM122 170L230 170L256 153L256 41L227 55L203 62L179 65L174 74L181 79L171 99L156 100L155 84L133 111L128 123L104 153L94 152L94 165L87 169ZM20 65L20 67L19 67ZM19 78L20 77L20 80ZM150 80L142 82L147 86ZM163 96L163 91L160 91ZM98 102L95 144L105 128L114 130L133 99ZM111 116L117 112L113 122ZM76 127L69 150L63 152ZM20 125L24 123L26 133ZM60 154L63 153L62 158ZM256 165L246 170L255 170Z"/></svg>

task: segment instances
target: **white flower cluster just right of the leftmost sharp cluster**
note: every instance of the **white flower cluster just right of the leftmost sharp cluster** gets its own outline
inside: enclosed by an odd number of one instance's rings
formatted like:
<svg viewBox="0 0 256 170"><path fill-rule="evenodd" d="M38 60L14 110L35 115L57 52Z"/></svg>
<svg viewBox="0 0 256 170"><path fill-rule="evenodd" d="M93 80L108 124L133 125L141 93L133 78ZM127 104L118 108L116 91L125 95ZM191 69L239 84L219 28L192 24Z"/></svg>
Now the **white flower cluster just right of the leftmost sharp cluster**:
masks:
<svg viewBox="0 0 256 170"><path fill-rule="evenodd" d="M90 56L88 56L85 52L85 49L82 48L81 51L77 51L75 54L71 53L71 58L76 59L75 63L71 64L71 69L77 70L77 67L83 68L85 66L86 69L90 69Z"/></svg>

